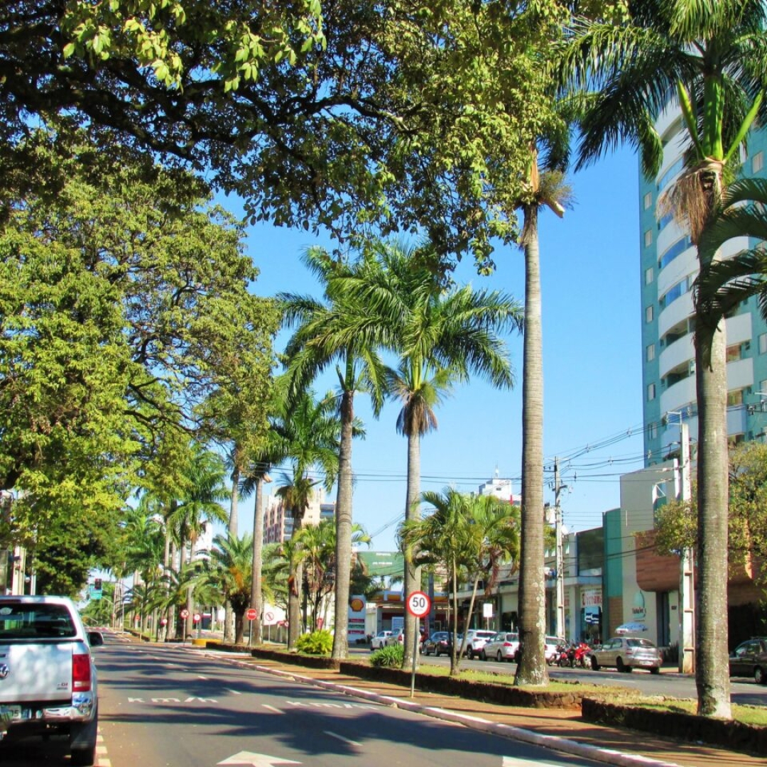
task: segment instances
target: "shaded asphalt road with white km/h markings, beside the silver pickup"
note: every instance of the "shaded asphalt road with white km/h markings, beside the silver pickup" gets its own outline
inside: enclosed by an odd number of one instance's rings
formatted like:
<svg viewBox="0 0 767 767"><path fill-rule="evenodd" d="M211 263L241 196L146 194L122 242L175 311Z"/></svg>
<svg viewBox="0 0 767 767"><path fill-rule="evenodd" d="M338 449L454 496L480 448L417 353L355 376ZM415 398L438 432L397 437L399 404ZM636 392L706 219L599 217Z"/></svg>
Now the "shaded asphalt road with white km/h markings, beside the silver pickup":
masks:
<svg viewBox="0 0 767 767"><path fill-rule="evenodd" d="M100 732L110 767L596 767L292 683L225 657L107 635L95 648ZM3 767L64 767L64 742L0 744Z"/></svg>

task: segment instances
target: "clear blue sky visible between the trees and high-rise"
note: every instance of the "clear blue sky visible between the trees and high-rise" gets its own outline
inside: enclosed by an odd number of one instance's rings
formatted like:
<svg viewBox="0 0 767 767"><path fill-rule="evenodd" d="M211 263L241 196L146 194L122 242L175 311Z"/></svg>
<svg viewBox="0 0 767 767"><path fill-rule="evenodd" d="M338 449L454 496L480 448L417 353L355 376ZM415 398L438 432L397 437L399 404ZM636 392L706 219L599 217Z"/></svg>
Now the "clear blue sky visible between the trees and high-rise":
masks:
<svg viewBox="0 0 767 767"><path fill-rule="evenodd" d="M547 211L540 220L544 451L548 467L559 458L568 486L563 517L576 531L601 525L602 513L619 505L621 474L643 465L638 173L633 151L619 150L571 176L575 204L564 219ZM225 204L239 213L232 202ZM317 242L329 245L306 232L249 229L247 248L260 271L255 292L321 298L301 263L304 249ZM522 302L522 252L502 248L494 258L494 275L477 275L469 258L456 279L508 291ZM497 469L518 494L522 337L509 336L509 351L518 377L514 390L493 390L473 379L437 411L439 429L421 442L422 490L476 491ZM317 390L332 385L322 380ZM392 550L405 507L407 441L395 430L399 406L388 403L376 421L366 397L357 395L356 410L367 438L354 443L354 519L374 536L374 549ZM548 487L545 499L554 501ZM252 529L252 500L240 505L239 529Z"/></svg>

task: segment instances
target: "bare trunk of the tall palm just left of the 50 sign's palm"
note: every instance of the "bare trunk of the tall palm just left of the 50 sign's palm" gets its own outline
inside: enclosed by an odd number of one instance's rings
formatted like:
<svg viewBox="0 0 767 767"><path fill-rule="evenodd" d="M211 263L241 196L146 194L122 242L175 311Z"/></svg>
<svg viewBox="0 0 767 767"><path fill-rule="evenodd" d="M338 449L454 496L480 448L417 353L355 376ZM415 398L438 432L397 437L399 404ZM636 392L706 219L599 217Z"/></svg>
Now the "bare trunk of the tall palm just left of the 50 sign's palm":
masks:
<svg viewBox="0 0 767 767"><path fill-rule="evenodd" d="M351 581L352 476L351 443L354 426L354 390L341 398L341 445L338 451L335 548L335 633L331 657L341 660L349 650L349 582Z"/></svg>

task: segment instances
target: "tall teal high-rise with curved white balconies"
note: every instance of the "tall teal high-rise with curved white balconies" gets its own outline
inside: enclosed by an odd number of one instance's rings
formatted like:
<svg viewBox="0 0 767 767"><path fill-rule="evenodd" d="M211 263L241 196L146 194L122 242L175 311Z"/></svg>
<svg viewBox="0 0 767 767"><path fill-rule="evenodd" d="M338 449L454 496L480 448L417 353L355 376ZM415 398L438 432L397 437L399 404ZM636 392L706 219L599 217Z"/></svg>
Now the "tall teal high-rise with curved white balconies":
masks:
<svg viewBox="0 0 767 767"><path fill-rule="evenodd" d="M686 133L676 108L661 114L656 127L663 139L663 166L655 179L640 174L640 252L644 448L647 466L678 452L679 419L698 433L693 333L693 282L697 252L690 236L671 216L660 216L657 203L680 175ZM749 137L742 176L765 176L767 131ZM732 240L723 255L749 247ZM751 299L726 321L727 433L732 444L758 439L767 429L767 324Z"/></svg>

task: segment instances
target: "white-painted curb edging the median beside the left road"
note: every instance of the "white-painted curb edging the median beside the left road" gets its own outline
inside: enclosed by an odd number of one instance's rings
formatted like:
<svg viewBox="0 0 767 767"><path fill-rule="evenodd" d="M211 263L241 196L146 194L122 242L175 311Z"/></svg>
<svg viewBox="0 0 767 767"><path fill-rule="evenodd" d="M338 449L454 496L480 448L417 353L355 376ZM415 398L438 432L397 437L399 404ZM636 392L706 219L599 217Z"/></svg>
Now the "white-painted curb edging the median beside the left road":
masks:
<svg viewBox="0 0 767 767"><path fill-rule="evenodd" d="M467 714L455 713L446 709L439 709L434 706L424 706L421 703L410 703L410 701L401 698L393 698L379 693L370 693L367 690L358 690L356 687L349 687L334 682L325 682L314 679L311 676L301 676L291 671L282 671L267 666L252 665L250 663L242 664L246 668L255 668L263 673L274 674L275 676L285 676L302 684L308 684L315 687L321 687L326 690L334 690L355 698L364 698L372 700L375 703L381 703L384 706L393 706L398 709L412 711L423 716L430 716L432 719L442 719L445 722L460 724L480 732L488 732L492 735L501 736L529 743L531 746L541 746L552 751L563 752L574 756L581 756L584 759L592 759L594 762L604 762L605 764L617 765L617 767L680 767L676 762L660 762L657 759L650 759L648 756L626 754L614 749L602 749L598 746L588 746L585 743L568 738L559 738L553 735L539 735L522 727L512 727L510 725L497 722L490 722L488 719L481 719L478 716L469 716Z"/></svg>

